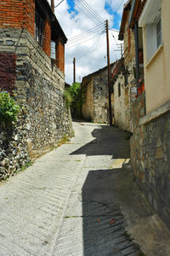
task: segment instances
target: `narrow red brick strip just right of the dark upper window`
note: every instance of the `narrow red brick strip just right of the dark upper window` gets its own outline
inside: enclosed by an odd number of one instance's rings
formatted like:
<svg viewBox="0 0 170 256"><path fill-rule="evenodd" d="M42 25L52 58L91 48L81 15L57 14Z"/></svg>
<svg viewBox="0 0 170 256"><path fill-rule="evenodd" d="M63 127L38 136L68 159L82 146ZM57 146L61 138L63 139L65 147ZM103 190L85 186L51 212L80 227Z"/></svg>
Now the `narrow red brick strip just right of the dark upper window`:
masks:
<svg viewBox="0 0 170 256"><path fill-rule="evenodd" d="M48 18L45 22L44 32L43 32L43 49L46 54L51 56L51 24Z"/></svg>

